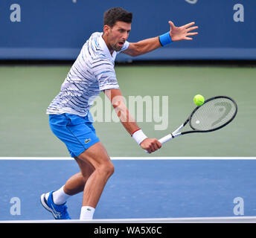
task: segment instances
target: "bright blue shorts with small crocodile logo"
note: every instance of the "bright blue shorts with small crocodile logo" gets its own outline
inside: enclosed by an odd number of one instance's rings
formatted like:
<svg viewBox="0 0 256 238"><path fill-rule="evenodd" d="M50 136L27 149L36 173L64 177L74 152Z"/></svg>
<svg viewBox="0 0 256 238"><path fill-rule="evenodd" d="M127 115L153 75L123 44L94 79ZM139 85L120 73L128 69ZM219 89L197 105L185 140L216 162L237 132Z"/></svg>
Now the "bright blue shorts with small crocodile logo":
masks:
<svg viewBox="0 0 256 238"><path fill-rule="evenodd" d="M77 157L100 141L88 116L64 113L49 115L49 124L54 135L65 143L71 157Z"/></svg>

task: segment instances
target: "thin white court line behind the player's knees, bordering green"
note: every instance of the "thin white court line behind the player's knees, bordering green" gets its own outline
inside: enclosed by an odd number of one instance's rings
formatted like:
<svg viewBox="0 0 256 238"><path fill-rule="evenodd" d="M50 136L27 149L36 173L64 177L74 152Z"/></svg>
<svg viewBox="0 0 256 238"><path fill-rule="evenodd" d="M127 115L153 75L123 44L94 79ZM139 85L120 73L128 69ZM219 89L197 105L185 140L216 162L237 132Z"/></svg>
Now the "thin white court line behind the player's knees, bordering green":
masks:
<svg viewBox="0 0 256 238"><path fill-rule="evenodd" d="M111 157L112 160L255 160L256 157ZM0 157L1 160L70 161L71 157Z"/></svg>

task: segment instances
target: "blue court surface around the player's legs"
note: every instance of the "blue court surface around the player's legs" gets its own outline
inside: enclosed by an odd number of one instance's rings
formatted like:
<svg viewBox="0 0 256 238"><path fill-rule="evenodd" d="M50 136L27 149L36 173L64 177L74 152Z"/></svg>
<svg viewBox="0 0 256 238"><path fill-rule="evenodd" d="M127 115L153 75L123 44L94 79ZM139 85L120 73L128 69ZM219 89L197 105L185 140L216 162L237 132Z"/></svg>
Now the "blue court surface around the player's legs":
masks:
<svg viewBox="0 0 256 238"><path fill-rule="evenodd" d="M256 158L112 158L95 219L256 215ZM53 219L40 195L79 172L72 158L1 158L0 220ZM83 194L68 199L79 219ZM20 213L11 202L19 198ZM236 206L240 208L237 209ZM236 211L238 210L238 214Z"/></svg>

